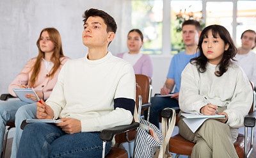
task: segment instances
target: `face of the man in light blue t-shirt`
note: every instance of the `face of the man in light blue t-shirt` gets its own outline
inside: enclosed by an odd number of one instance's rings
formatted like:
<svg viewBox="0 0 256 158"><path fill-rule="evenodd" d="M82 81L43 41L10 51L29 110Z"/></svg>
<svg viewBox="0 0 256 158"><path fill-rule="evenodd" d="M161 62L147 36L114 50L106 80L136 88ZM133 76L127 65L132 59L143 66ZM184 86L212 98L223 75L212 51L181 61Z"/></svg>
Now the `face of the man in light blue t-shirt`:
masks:
<svg viewBox="0 0 256 158"><path fill-rule="evenodd" d="M199 33L195 25L185 25L182 28L182 40L186 46L197 45Z"/></svg>

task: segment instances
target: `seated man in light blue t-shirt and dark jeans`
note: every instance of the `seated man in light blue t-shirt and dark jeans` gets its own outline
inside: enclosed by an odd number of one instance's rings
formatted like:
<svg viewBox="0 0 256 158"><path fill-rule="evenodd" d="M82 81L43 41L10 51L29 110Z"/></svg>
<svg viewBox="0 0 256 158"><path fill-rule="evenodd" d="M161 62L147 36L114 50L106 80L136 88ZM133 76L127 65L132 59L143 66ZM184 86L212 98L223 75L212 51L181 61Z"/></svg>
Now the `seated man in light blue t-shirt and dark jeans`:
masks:
<svg viewBox="0 0 256 158"><path fill-rule="evenodd" d="M162 109L179 106L181 72L190 59L196 57L198 38L201 33L200 28L200 23L196 20L186 20L182 24L182 40L186 49L173 56L166 82L161 88L161 95L167 95L175 86L174 94L172 97L152 97L151 100L152 107L150 107L149 122L156 125L156 127L159 127L158 118Z"/></svg>

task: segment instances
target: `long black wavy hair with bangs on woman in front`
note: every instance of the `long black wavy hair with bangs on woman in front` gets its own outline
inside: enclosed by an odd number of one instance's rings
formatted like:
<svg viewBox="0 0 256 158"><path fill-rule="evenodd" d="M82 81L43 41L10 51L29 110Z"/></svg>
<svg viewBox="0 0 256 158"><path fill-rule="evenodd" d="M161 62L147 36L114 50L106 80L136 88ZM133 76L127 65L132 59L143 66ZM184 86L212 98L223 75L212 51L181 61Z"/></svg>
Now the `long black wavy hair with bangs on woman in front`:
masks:
<svg viewBox="0 0 256 158"><path fill-rule="evenodd" d="M219 70L215 72L215 75L220 77L225 72L227 72L228 67L231 63L231 59L235 61L234 57L236 56L237 49L236 45L234 44L230 34L228 33L227 29L220 25L211 25L207 26L203 29L199 41L198 41L198 49L200 51L200 55L196 58L190 60L190 63L198 66L198 71L204 73L206 71L206 64L208 59L205 57L202 43L204 38L207 38L208 32L211 31L214 38L219 34L220 38L224 41L225 45L228 43L229 47L227 51L224 51L223 58L221 59L220 63L218 63Z"/></svg>

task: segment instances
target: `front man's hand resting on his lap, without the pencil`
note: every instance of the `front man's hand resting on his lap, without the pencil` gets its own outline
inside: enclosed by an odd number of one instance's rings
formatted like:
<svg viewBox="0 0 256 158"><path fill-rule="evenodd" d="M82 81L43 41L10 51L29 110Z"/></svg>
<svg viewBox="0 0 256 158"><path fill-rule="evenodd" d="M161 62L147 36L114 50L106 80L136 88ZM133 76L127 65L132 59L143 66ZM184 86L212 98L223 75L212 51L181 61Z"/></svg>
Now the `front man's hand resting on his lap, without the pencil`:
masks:
<svg viewBox="0 0 256 158"><path fill-rule="evenodd" d="M61 118L61 123L56 124L67 134L75 134L81 132L81 121L74 118Z"/></svg>

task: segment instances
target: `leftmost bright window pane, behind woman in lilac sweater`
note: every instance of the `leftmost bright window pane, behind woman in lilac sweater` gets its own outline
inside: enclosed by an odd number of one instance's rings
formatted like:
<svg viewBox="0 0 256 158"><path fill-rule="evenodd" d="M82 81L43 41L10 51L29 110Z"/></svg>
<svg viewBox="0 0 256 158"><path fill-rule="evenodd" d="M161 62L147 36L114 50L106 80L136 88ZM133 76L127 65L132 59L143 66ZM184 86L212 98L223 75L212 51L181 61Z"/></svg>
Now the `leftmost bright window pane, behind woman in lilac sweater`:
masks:
<svg viewBox="0 0 256 158"><path fill-rule="evenodd" d="M163 1L132 1L132 28L144 36L141 51L161 54L163 41Z"/></svg>

